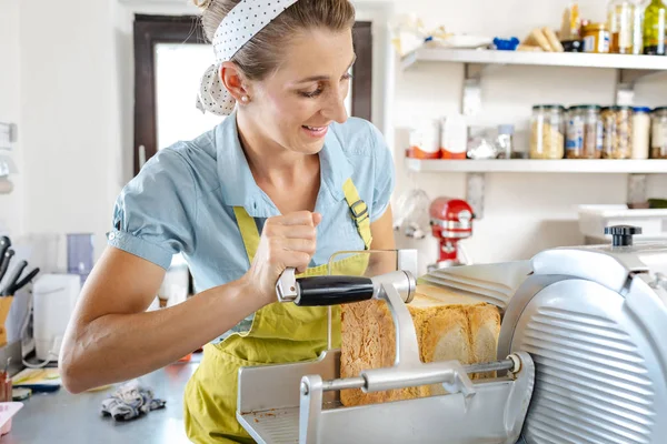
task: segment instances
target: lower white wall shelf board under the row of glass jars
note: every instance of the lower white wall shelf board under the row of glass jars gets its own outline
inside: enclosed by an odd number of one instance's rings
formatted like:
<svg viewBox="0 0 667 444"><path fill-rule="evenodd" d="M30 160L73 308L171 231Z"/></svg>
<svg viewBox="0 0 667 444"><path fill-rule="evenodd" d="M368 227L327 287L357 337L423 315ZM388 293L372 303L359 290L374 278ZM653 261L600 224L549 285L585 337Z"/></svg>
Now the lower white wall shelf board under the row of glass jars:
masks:
<svg viewBox="0 0 667 444"><path fill-rule="evenodd" d="M416 172L461 173L667 173L667 160L419 160L406 159Z"/></svg>

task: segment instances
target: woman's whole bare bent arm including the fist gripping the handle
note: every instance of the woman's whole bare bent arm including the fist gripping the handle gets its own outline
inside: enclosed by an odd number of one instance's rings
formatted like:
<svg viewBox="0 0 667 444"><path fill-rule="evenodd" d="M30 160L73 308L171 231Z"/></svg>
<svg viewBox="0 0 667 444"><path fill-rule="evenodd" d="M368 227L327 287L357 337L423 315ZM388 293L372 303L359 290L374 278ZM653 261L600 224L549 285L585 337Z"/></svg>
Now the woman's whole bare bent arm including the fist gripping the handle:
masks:
<svg viewBox="0 0 667 444"><path fill-rule="evenodd" d="M66 389L79 393L160 369L229 331L276 301L276 281L288 266L303 270L316 246L321 215L270 218L255 261L238 281L178 305L146 312L165 278L160 266L108 248L88 278L59 357Z"/></svg>

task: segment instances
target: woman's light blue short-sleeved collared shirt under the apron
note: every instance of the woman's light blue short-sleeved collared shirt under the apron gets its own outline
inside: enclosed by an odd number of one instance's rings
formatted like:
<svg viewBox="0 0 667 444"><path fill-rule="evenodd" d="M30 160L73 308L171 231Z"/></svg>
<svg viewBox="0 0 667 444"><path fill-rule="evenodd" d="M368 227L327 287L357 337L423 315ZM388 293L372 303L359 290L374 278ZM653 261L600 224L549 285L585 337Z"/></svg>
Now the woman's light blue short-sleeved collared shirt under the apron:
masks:
<svg viewBox="0 0 667 444"><path fill-rule="evenodd" d="M322 222L311 266L327 263L337 251L364 250L342 192L348 178L366 201L371 222L385 213L395 185L391 154L368 121L332 123L319 155L316 211ZM255 182L235 113L146 162L117 199L108 243L163 269L182 253L201 292L241 278L250 266L233 206L243 206L260 233L267 218L280 214Z"/></svg>

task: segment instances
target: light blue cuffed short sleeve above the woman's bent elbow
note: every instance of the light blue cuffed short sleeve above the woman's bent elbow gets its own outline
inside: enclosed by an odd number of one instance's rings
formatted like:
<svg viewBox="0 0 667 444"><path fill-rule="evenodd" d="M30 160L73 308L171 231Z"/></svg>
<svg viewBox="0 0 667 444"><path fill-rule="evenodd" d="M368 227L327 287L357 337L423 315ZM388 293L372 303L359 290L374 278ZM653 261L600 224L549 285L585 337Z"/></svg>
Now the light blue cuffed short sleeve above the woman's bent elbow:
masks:
<svg viewBox="0 0 667 444"><path fill-rule="evenodd" d="M196 191L181 154L158 152L118 195L108 244L168 269L173 254L193 249Z"/></svg>

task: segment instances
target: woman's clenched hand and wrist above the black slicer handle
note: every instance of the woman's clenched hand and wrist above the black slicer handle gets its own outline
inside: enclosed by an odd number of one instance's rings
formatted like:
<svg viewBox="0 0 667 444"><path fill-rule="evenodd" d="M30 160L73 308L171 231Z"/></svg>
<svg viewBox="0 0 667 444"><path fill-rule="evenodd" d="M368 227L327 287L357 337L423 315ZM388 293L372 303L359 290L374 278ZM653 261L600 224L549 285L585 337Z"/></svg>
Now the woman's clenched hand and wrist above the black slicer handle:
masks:
<svg viewBox="0 0 667 444"><path fill-rule="evenodd" d="M315 254L316 228L321 220L321 214L310 211L267 219L255 260L243 276L261 306L277 301L276 282L285 269L306 271Z"/></svg>

